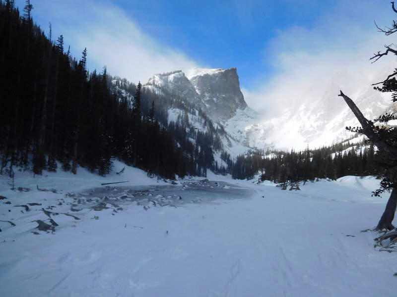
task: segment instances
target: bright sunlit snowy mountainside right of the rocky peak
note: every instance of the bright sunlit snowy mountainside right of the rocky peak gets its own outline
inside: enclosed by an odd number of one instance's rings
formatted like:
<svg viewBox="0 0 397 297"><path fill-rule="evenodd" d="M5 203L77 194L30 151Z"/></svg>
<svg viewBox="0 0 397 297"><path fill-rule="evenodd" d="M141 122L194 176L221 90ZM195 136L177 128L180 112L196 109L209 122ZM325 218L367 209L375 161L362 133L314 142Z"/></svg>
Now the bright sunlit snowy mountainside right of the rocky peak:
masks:
<svg viewBox="0 0 397 297"><path fill-rule="evenodd" d="M388 70L373 73L371 77L363 78L363 82L353 83L353 86L348 82L340 82L337 77L330 78L316 92L308 90L299 98L280 99L284 108L279 115L250 128L257 147L271 145L276 148L303 149L309 145L319 148L351 139L354 134L347 131L346 127L356 127L359 123L344 100L337 96L339 90L356 103L367 119L373 120L385 111L396 108L390 94L380 93L371 86L385 79L390 73Z"/></svg>

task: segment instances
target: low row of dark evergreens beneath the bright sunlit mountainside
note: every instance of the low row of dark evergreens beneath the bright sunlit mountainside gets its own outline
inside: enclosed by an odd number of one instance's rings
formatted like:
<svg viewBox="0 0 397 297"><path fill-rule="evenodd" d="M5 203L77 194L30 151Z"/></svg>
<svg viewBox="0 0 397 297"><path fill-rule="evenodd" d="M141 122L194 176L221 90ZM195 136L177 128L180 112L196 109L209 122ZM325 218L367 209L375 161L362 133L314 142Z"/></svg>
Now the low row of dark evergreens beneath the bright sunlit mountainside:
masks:
<svg viewBox="0 0 397 297"><path fill-rule="evenodd" d="M251 179L260 172L261 180L274 183L298 182L315 178L337 179L346 175L377 175L381 168L373 145L338 145L303 151L258 151L237 157L232 169L235 179Z"/></svg>

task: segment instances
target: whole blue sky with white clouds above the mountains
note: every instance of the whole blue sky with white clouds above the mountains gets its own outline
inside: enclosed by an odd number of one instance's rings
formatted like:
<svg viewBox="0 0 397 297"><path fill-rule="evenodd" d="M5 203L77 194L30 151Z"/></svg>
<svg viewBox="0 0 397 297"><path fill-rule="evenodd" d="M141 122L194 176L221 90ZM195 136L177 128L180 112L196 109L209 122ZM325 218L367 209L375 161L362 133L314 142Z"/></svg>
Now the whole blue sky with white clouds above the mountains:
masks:
<svg viewBox="0 0 397 297"><path fill-rule="evenodd" d="M24 2L15 1L20 8ZM341 69L350 76L377 71L382 65L368 58L393 40L378 33L374 21L388 26L396 15L389 0L31 3L46 34L52 23L53 40L63 34L77 58L87 48L91 71L106 65L113 75L145 83L155 73L194 66L237 67L246 100L257 110L290 96L285 86L303 94L320 76L344 82Z"/></svg>

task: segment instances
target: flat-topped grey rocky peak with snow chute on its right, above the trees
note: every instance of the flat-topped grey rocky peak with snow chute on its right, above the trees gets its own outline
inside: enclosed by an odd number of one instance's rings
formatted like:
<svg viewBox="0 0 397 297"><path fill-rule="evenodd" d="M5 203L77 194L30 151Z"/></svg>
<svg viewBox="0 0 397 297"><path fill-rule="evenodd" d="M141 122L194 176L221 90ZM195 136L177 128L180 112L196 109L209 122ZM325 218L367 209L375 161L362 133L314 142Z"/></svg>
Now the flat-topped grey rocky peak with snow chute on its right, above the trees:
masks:
<svg viewBox="0 0 397 297"><path fill-rule="evenodd" d="M251 126L259 121L260 115L244 100L236 68L193 68L186 73L156 74L143 87L186 99L201 109L215 126L226 132L223 143L232 156L255 147ZM173 109L170 117L183 113L186 111Z"/></svg>

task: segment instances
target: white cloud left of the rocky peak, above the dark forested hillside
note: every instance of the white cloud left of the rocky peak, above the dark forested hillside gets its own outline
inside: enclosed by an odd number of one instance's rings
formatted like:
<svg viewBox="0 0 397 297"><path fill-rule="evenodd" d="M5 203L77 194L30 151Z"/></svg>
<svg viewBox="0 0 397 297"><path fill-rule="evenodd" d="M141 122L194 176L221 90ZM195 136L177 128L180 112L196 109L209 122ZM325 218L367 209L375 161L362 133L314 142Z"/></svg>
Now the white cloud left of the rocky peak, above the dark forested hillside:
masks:
<svg viewBox="0 0 397 297"><path fill-rule="evenodd" d="M66 48L70 45L77 59L87 48L90 71L102 71L106 65L112 75L145 83L156 73L197 66L181 51L157 43L125 11L108 1L42 0L35 15L44 24L54 23L53 39L63 34Z"/></svg>

